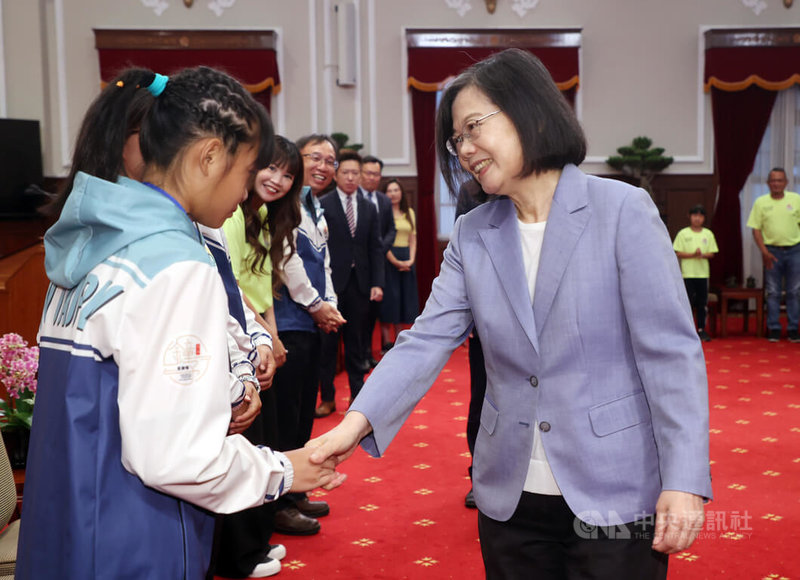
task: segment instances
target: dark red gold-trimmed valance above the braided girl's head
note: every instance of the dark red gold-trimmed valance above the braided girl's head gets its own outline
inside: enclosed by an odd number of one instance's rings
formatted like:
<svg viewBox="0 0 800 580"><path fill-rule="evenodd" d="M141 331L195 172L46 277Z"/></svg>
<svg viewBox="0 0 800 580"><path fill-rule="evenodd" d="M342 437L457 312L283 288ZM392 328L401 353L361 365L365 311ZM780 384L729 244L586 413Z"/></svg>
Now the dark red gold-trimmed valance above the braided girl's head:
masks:
<svg viewBox="0 0 800 580"><path fill-rule="evenodd" d="M192 66L210 66L238 79L267 111L272 94L281 89L278 60L272 49L111 49L98 48L100 78L104 83L130 66L149 68L161 74Z"/></svg>

